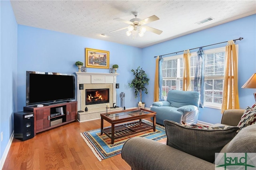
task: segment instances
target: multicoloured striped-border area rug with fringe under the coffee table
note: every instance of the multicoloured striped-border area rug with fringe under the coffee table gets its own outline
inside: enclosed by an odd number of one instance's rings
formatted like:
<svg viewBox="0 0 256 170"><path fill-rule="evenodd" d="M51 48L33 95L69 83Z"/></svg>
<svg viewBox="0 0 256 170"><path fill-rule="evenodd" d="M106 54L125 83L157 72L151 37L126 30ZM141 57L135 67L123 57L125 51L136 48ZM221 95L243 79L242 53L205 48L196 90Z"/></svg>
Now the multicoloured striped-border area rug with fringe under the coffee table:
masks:
<svg viewBox="0 0 256 170"><path fill-rule="evenodd" d="M142 121L152 125L152 122L150 121ZM86 144L92 149L92 152L100 161L120 154L124 142L126 142L126 140L128 140L129 138L143 137L156 141L166 138L165 128L160 125L156 125L156 132L154 132L153 130L148 130L130 136L125 136L123 138L116 139L114 141L114 144L111 144L111 139L106 136L106 134L100 135L100 128L81 132L80 135L82 136L82 138L84 138Z"/></svg>

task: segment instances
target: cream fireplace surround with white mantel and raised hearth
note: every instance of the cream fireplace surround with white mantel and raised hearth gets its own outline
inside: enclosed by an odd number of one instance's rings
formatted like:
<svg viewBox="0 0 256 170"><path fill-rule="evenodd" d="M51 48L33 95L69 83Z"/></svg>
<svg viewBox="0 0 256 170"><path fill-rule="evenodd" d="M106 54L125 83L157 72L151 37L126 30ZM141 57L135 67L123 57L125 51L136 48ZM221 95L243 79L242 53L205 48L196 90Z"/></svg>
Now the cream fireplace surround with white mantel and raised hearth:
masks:
<svg viewBox="0 0 256 170"><path fill-rule="evenodd" d="M109 103L110 107L113 103L117 105L116 96L116 76L118 73L88 73L88 72L76 72L77 82L77 110L84 111L79 112L77 119L80 122L90 121L93 119L100 119L100 113L106 112L106 102L96 104L86 104L88 96L86 96L86 89L109 89ZM79 88L83 87L83 89ZM87 107L88 111L85 111ZM110 111L120 111L122 107L111 108Z"/></svg>

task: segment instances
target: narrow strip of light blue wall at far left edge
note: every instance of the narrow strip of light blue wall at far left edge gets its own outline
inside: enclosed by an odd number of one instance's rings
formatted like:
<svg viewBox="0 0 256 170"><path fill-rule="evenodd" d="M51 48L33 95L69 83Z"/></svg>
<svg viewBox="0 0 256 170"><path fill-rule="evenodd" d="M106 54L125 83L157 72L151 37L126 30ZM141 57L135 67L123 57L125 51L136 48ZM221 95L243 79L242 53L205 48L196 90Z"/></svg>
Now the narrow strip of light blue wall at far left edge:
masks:
<svg viewBox="0 0 256 170"><path fill-rule="evenodd" d="M0 1L0 132L1 160L13 132L13 113L17 111L17 38L18 25L10 1Z"/></svg>

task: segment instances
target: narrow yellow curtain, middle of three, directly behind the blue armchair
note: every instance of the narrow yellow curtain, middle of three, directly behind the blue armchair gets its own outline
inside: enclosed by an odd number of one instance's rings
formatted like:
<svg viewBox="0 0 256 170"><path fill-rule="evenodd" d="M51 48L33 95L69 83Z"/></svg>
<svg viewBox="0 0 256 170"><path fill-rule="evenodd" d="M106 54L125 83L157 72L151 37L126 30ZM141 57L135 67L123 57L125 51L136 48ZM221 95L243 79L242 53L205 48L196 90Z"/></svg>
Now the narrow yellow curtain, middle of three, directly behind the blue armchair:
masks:
<svg viewBox="0 0 256 170"><path fill-rule="evenodd" d="M190 52L189 49L184 51L183 54L183 83L182 90L183 91L191 91L190 87Z"/></svg>

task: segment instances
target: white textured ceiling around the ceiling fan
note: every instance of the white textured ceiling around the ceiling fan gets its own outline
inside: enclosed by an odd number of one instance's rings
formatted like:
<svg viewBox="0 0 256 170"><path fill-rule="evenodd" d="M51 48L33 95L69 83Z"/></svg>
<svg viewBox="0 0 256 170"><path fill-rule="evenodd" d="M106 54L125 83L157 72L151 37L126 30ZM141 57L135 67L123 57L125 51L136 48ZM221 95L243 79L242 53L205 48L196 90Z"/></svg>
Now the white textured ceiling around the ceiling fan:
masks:
<svg viewBox="0 0 256 170"><path fill-rule="evenodd" d="M256 14L255 0L11 0L11 4L18 24L141 48ZM158 16L160 20L146 26L162 34L146 32L132 39L126 30L109 33L128 26L114 18L129 21L134 11L142 20ZM214 20L196 24L209 17Z"/></svg>

